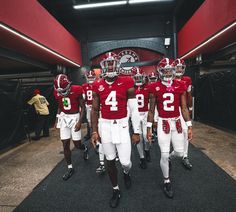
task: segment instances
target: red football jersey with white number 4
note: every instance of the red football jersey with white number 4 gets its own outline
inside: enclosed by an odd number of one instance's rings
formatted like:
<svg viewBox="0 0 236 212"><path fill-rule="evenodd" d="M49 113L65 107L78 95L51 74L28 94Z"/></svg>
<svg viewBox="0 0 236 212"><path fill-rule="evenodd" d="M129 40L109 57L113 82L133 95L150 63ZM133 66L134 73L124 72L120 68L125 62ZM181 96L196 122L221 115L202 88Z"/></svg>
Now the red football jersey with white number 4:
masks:
<svg viewBox="0 0 236 212"><path fill-rule="evenodd" d="M121 119L127 116L127 90L134 87L130 77L117 77L108 84L104 79L93 84L93 91L99 95L101 117Z"/></svg>

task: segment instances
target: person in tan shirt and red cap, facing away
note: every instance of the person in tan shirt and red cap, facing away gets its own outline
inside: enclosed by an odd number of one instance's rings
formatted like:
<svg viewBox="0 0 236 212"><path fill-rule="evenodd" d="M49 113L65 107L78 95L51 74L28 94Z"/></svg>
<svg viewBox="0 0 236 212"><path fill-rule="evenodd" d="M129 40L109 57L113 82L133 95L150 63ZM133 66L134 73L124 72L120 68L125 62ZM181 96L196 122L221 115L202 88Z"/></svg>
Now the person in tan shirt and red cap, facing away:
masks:
<svg viewBox="0 0 236 212"><path fill-rule="evenodd" d="M41 131L43 130L43 137L49 137L49 103L47 99L40 94L39 89L35 89L34 96L27 102L29 105L34 105L37 113L37 122L35 126L35 136L33 140L39 140Z"/></svg>

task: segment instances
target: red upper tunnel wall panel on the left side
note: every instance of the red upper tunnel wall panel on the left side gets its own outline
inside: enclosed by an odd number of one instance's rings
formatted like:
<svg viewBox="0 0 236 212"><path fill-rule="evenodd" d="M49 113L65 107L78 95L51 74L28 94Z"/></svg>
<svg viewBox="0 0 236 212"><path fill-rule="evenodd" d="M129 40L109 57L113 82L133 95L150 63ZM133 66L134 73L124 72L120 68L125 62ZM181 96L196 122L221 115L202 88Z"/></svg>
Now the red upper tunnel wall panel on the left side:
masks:
<svg viewBox="0 0 236 212"><path fill-rule="evenodd" d="M36 0L1 1L0 21L82 64L80 43Z"/></svg>

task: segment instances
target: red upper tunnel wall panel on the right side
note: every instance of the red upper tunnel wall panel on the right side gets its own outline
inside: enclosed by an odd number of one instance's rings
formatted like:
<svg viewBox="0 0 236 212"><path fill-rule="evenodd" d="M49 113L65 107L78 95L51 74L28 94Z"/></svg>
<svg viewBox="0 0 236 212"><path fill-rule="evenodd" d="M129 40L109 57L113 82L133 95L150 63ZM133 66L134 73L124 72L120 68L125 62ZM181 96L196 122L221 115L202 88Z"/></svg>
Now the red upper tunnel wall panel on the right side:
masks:
<svg viewBox="0 0 236 212"><path fill-rule="evenodd" d="M235 20L235 0L206 0L179 31L178 56L183 56Z"/></svg>

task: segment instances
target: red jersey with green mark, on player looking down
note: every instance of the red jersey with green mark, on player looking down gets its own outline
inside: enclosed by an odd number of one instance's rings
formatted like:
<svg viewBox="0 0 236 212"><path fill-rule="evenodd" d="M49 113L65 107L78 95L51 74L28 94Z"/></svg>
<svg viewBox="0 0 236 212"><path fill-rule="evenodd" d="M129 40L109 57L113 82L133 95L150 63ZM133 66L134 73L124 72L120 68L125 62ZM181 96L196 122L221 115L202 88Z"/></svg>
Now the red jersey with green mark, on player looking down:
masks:
<svg viewBox="0 0 236 212"><path fill-rule="evenodd" d="M79 95L83 94L83 89L79 85L72 85L70 93L63 97L54 90L54 97L58 101L58 107L64 113L75 113L79 111Z"/></svg>

